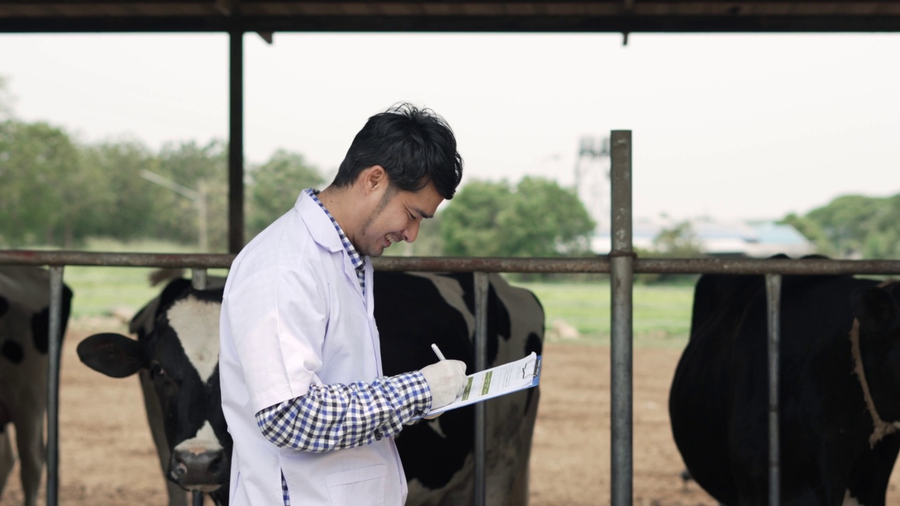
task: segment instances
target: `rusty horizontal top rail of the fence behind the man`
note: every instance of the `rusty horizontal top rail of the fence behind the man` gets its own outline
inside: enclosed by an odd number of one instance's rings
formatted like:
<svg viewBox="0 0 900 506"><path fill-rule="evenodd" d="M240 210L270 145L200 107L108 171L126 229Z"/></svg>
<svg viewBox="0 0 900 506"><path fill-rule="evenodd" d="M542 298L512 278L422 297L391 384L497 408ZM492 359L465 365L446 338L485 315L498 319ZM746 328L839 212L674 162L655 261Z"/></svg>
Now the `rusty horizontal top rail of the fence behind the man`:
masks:
<svg viewBox="0 0 900 506"><path fill-rule="evenodd" d="M228 268L234 255L0 250L0 265ZM608 274L609 258L382 257L383 271ZM635 274L900 275L900 260L636 258Z"/></svg>

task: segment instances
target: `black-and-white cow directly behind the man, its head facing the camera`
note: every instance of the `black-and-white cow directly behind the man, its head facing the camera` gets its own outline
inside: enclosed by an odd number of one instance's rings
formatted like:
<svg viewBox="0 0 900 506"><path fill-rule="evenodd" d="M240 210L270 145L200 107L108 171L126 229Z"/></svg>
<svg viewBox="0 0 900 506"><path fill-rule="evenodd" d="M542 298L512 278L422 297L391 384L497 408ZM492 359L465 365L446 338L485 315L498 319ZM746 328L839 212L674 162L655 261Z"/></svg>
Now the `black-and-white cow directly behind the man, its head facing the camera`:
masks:
<svg viewBox="0 0 900 506"><path fill-rule="evenodd" d="M464 360L472 370L471 274L377 271L374 286L375 319L381 334L385 375L433 363L436 357L430 348L432 342L437 343L447 358ZM158 301L148 304L148 307L158 307L151 331L139 332L138 340L98 334L82 341L78 352L85 364L106 375L121 377L138 370L151 371L153 392L164 406L166 446L172 452L166 475L188 490L204 492L212 491L211 482L215 481L221 487L212 492L214 501L227 503L231 440L218 405L218 371L205 366L201 372L194 366L205 363L203 360L210 355L218 357L220 301L221 290L196 291L187 280L175 280L166 286ZM139 316L140 313L135 318ZM544 324L544 311L534 294L509 285L500 276L491 276L488 329L491 365L525 357L532 351L540 354ZM203 359L191 358L200 355ZM193 401L188 400L185 390L202 392L205 397L201 399L197 393L191 393ZM533 388L486 403L490 504L527 504L528 459L538 395L538 389ZM171 407L166 409L166 405ZM148 403L148 411L151 407ZM153 417L150 418L152 425ZM473 423L473 407L468 407L403 429L396 442L410 485L408 505L471 503ZM184 438L199 438L194 434L198 434L198 429L202 432L207 424L209 429L205 429L207 437L203 440L208 445L184 443L188 440ZM210 433L215 441L208 437ZM193 448L187 449L187 453L204 456L202 461L187 462L177 456L179 446ZM207 457L213 447L221 448L221 454ZM211 473L208 465L212 462L216 463L215 473ZM201 475L206 477L202 486L186 479ZM184 500L184 495L175 500Z"/></svg>

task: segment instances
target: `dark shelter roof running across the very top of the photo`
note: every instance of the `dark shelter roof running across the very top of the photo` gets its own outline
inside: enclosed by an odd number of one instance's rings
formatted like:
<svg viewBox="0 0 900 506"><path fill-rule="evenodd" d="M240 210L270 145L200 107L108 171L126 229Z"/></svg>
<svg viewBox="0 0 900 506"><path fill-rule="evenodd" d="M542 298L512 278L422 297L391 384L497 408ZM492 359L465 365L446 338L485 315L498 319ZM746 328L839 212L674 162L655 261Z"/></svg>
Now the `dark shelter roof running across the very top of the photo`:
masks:
<svg viewBox="0 0 900 506"><path fill-rule="evenodd" d="M3 0L0 32L895 32L895 0Z"/></svg>

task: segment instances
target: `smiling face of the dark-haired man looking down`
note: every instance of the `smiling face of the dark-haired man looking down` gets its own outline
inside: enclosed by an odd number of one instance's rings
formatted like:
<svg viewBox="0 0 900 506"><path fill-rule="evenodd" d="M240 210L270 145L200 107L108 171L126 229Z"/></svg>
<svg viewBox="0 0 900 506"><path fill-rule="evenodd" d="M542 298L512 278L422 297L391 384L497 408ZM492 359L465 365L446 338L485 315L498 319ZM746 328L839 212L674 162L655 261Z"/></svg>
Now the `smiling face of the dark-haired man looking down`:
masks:
<svg viewBox="0 0 900 506"><path fill-rule="evenodd" d="M419 224L431 218L444 197L428 183L418 192L390 186L383 190L375 211L366 218L353 246L361 255L381 257L393 242L412 242L419 235Z"/></svg>

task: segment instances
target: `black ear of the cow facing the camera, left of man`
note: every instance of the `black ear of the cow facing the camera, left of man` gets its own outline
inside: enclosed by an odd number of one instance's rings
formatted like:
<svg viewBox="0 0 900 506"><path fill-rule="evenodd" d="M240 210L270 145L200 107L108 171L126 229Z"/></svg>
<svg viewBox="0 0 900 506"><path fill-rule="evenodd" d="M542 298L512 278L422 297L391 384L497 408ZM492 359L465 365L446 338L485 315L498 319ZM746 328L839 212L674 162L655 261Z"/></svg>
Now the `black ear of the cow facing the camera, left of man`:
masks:
<svg viewBox="0 0 900 506"><path fill-rule="evenodd" d="M148 365L143 345L121 334L94 334L78 343L76 350L85 366L113 378L133 375Z"/></svg>

